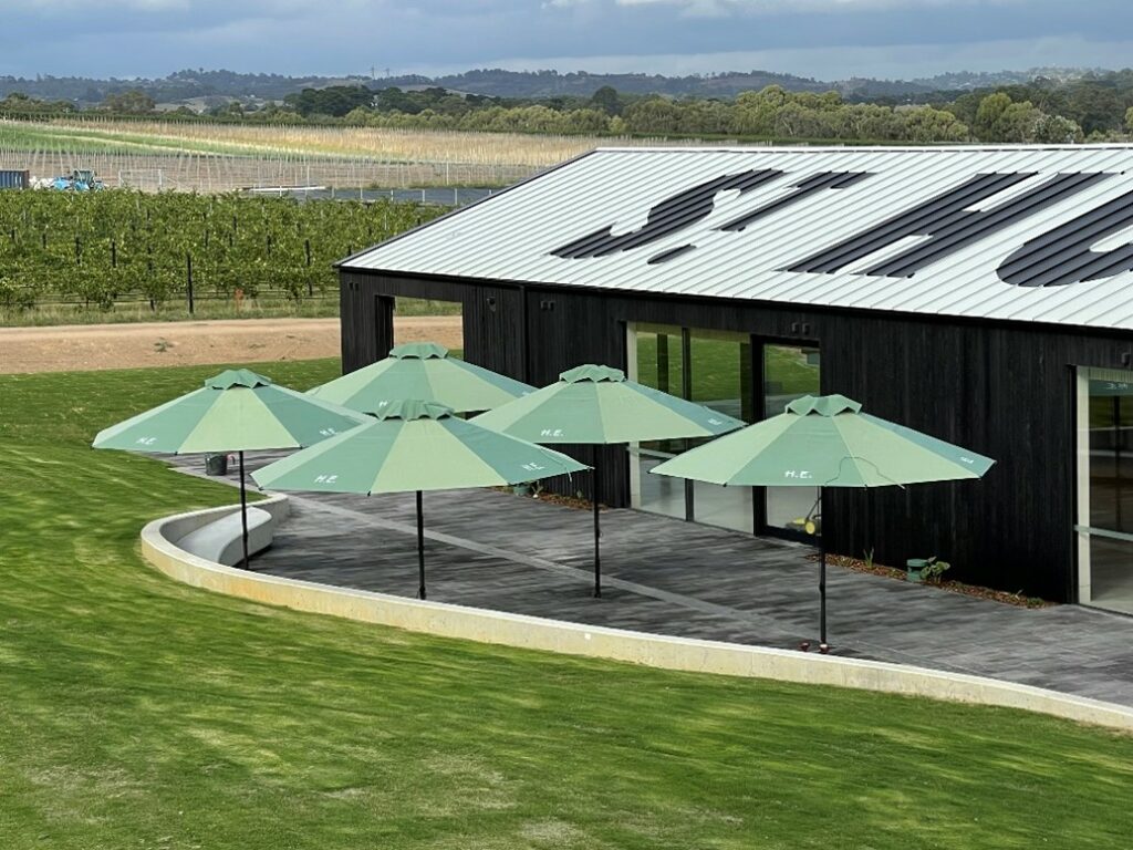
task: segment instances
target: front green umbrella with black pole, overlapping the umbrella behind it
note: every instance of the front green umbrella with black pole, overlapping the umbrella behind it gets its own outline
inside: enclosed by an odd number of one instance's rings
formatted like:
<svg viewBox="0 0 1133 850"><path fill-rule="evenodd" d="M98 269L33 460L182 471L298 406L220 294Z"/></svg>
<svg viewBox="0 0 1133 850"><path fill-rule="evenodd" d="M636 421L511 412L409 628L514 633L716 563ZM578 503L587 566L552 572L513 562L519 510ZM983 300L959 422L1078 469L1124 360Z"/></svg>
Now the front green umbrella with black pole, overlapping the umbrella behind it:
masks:
<svg viewBox="0 0 1133 850"><path fill-rule="evenodd" d="M427 401L391 401L365 425L252 474L265 490L417 493L418 594L425 598L421 492L521 484L586 469L542 445L452 415Z"/></svg>

